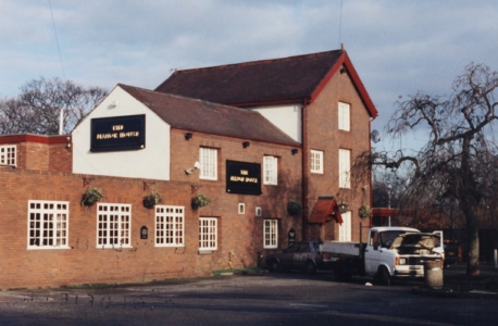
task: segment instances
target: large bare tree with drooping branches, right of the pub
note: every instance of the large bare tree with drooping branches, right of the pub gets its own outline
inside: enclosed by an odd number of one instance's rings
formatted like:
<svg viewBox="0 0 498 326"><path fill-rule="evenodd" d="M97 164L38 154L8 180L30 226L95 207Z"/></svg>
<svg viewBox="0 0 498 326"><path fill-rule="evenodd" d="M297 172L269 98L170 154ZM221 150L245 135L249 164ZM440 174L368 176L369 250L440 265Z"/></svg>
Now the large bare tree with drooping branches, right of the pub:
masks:
<svg viewBox="0 0 498 326"><path fill-rule="evenodd" d="M456 202L466 227L468 275L478 271L480 213L497 202L497 142L494 124L498 120L496 100L498 73L482 64L470 64L452 85L448 98L418 92L398 101L387 131L401 139L423 131L428 140L413 155L364 153L354 163L357 175L381 165L395 173L403 165L407 189L400 205L444 205ZM410 164L406 164L410 163ZM491 208L490 208L491 209Z"/></svg>

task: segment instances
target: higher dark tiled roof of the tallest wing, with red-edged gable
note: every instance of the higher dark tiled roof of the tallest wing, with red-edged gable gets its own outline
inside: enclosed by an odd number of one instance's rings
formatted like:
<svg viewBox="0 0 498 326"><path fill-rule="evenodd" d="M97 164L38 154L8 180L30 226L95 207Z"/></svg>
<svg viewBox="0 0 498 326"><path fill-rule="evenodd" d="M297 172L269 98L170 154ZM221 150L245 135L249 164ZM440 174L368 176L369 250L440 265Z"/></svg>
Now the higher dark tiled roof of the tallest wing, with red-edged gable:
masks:
<svg viewBox="0 0 498 326"><path fill-rule="evenodd" d="M344 52L175 71L157 91L224 104L309 99Z"/></svg>

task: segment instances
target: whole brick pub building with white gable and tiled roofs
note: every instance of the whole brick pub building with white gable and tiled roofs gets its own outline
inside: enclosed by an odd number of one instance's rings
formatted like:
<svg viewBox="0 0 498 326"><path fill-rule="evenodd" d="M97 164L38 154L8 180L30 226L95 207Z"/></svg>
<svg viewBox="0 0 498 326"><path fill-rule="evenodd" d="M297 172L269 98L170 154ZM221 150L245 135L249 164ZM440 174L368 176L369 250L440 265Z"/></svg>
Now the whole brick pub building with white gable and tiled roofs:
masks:
<svg viewBox="0 0 498 326"><path fill-rule="evenodd" d="M203 276L292 235L359 240L371 188L349 170L376 114L341 49L119 84L71 135L0 136L0 288Z"/></svg>

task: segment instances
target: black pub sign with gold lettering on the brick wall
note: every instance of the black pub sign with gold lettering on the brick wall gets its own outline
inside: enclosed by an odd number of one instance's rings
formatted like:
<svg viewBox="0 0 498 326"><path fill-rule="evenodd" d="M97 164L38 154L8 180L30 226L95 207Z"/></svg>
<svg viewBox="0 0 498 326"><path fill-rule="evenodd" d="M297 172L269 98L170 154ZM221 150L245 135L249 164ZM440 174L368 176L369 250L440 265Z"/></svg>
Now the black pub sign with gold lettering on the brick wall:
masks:
<svg viewBox="0 0 498 326"><path fill-rule="evenodd" d="M261 164L226 161L226 192L261 195Z"/></svg>

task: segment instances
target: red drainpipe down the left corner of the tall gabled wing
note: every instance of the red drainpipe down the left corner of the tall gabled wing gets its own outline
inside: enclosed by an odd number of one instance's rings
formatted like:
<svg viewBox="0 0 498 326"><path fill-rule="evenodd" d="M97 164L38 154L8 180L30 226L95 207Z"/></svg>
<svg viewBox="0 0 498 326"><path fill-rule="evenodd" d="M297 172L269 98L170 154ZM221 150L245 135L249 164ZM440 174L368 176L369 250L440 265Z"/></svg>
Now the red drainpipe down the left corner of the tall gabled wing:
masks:
<svg viewBox="0 0 498 326"><path fill-rule="evenodd" d="M308 240L309 233L308 233L308 215L309 215L309 206L308 206L308 113L307 108L310 104L310 99L304 99L302 102L302 110L301 110L301 137L302 137L302 153L301 153L301 191L302 191L302 231L301 231L301 239Z"/></svg>

